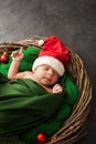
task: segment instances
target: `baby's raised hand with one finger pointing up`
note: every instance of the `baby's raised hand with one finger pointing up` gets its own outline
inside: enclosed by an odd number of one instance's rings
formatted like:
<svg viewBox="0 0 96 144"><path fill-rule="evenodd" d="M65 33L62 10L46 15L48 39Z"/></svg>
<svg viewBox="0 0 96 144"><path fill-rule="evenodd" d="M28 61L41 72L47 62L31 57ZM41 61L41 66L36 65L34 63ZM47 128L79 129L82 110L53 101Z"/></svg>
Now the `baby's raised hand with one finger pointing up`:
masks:
<svg viewBox="0 0 96 144"><path fill-rule="evenodd" d="M11 53L11 56L12 56L12 59L13 60L18 60L18 61L21 61L22 59L23 59L23 52L22 52L22 49L23 48L20 48L20 51L13 51L12 53Z"/></svg>

